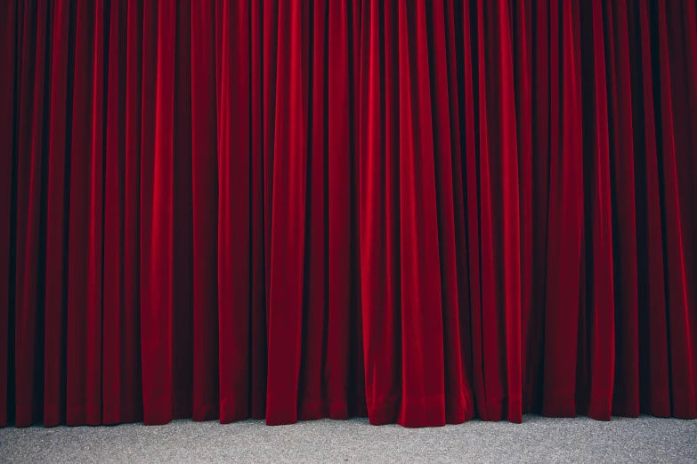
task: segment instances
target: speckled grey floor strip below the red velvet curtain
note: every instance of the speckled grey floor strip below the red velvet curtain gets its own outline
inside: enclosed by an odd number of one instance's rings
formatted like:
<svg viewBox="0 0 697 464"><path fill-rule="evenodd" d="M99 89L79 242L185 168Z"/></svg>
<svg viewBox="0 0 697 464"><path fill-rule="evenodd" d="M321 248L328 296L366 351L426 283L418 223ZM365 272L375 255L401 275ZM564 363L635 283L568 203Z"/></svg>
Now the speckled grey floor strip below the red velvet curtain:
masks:
<svg viewBox="0 0 697 464"><path fill-rule="evenodd" d="M697 462L697 420L472 420L443 428L315 420L269 427L176 420L166 426L0 429L2 462Z"/></svg>

